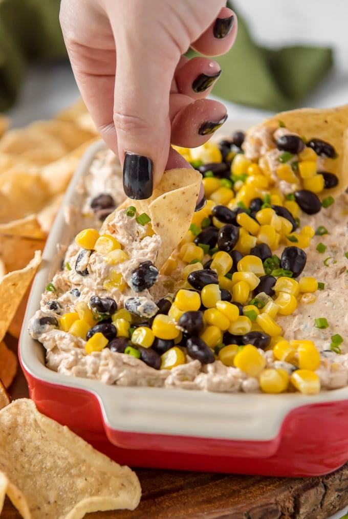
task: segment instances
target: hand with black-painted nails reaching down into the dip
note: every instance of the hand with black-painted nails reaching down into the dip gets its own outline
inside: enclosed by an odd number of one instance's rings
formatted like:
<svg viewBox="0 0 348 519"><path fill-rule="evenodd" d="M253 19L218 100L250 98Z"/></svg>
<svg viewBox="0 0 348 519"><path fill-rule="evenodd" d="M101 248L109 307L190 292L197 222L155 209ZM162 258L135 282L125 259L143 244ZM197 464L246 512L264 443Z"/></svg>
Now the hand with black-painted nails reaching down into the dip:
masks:
<svg viewBox="0 0 348 519"><path fill-rule="evenodd" d="M225 53L236 18L224 0L62 0L60 21L82 98L123 165L131 198L151 196L167 167L187 166L170 144L196 147L227 118L205 99L221 71L191 46ZM201 193L199 200L203 197Z"/></svg>

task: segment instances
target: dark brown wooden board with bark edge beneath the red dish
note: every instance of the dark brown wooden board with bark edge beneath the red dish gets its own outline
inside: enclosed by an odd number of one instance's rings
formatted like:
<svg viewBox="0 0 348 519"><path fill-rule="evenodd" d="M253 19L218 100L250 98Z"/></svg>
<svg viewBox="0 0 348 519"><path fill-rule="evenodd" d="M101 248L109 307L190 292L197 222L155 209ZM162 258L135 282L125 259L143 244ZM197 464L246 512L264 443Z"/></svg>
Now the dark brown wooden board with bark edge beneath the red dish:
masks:
<svg viewBox="0 0 348 519"><path fill-rule="evenodd" d="M6 343L13 351L17 342ZM10 388L13 399L27 397L19 371ZM327 476L307 479L238 476L136 469L143 496L133 512L96 512L91 519L326 519L348 505L348 463ZM4 519L20 515L8 499ZM51 518L49 518L51 519ZM52 518L53 519L53 518Z"/></svg>

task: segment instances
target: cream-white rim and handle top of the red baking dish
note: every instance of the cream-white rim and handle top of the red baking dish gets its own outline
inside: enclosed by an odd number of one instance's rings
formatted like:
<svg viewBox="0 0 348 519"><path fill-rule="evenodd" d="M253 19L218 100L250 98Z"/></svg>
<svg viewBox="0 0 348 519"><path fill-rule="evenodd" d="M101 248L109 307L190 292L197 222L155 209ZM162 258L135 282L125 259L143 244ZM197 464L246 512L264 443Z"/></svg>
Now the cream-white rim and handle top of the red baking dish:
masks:
<svg viewBox="0 0 348 519"><path fill-rule="evenodd" d="M248 122L227 121L220 136L246 129ZM45 350L27 333L29 319L39 308L41 293L52 274L60 268L63 253L57 244L68 244L77 230L65 223L64 208L76 203L76 187L88 172L96 152L104 147L93 144L83 156L67 189L35 277L20 336L23 366L33 377L49 384L82 389L100 401L108 427L132 432L177 434L230 440L270 440L280 430L285 416L296 407L348 399L348 387L307 396L300 393L253 394L211 393L184 389L106 386L98 380L69 377L45 366Z"/></svg>

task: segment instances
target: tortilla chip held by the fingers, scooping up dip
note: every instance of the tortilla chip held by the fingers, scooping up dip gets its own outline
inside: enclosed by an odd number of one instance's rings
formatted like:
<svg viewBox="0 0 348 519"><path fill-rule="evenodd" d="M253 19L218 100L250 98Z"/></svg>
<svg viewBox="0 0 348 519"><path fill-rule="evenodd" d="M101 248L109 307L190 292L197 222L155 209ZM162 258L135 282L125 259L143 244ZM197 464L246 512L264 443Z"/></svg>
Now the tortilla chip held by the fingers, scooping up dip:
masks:
<svg viewBox="0 0 348 519"><path fill-rule="evenodd" d="M191 168L164 171L160 184L147 200L127 198L116 211L134 206L138 213L151 218L152 229L161 237L155 265L160 269L183 239L191 224L200 190L202 175ZM101 234L113 220L111 213L102 225Z"/></svg>

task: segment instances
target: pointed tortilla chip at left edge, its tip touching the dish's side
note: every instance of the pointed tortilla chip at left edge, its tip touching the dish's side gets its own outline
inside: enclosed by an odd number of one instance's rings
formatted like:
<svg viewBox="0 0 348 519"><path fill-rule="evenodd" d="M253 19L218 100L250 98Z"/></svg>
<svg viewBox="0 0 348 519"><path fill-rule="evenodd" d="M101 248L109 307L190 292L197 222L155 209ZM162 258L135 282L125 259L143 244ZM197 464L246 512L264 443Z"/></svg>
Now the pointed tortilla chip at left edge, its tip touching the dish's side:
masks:
<svg viewBox="0 0 348 519"><path fill-rule="evenodd" d="M0 281L0 341L3 340L17 308L41 263L41 252L21 269L9 272Z"/></svg>

